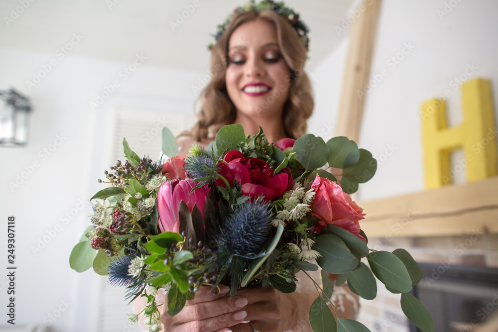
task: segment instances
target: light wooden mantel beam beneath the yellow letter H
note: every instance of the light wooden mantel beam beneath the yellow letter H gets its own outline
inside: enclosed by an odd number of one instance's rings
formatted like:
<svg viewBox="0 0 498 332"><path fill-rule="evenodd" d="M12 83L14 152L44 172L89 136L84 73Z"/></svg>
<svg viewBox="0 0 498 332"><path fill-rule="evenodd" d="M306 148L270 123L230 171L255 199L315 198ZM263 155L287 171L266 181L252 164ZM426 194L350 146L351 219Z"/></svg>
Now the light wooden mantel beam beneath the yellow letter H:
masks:
<svg viewBox="0 0 498 332"><path fill-rule="evenodd" d="M359 205L370 237L498 233L498 177Z"/></svg>

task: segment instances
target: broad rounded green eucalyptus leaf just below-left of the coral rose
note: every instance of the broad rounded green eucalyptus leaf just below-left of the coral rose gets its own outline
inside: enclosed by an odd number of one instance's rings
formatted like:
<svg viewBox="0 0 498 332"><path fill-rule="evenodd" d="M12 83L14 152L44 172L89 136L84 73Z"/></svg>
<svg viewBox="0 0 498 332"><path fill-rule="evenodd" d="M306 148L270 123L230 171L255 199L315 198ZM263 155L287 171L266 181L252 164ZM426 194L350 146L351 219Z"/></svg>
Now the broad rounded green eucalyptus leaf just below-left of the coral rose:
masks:
<svg viewBox="0 0 498 332"><path fill-rule="evenodd" d="M315 239L312 248L321 255L316 259L318 265L329 273L347 273L357 267L360 262L337 235L320 234Z"/></svg>

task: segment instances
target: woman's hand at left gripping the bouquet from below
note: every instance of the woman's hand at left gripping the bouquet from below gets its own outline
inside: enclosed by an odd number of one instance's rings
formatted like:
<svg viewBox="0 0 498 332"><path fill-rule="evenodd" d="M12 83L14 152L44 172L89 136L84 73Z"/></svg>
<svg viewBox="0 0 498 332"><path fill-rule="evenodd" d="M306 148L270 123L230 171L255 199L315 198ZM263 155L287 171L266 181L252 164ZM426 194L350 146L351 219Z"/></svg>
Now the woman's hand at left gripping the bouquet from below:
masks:
<svg viewBox="0 0 498 332"><path fill-rule="evenodd" d="M202 286L193 300L173 317L166 314L166 306L161 315L164 332L227 332L230 327L242 323L247 312L244 307L248 300L236 295L230 298L230 288L221 286L221 291L213 295L211 287ZM244 310L243 310L244 309ZM249 330L251 331L251 330Z"/></svg>

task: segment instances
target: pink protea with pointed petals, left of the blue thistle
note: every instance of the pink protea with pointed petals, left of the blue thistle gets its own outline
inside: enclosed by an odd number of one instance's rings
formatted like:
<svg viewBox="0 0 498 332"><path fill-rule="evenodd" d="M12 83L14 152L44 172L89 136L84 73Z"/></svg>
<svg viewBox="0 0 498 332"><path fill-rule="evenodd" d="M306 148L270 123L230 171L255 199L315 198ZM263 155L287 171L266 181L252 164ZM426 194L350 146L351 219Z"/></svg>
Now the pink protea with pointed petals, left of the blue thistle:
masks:
<svg viewBox="0 0 498 332"><path fill-rule="evenodd" d="M171 231L178 232L179 221L178 211L180 202L187 204L190 212L197 206L201 215L204 212L204 202L208 195L208 186L197 188L191 179L171 180L163 183L157 193L157 210L159 211L159 230L161 233Z"/></svg>

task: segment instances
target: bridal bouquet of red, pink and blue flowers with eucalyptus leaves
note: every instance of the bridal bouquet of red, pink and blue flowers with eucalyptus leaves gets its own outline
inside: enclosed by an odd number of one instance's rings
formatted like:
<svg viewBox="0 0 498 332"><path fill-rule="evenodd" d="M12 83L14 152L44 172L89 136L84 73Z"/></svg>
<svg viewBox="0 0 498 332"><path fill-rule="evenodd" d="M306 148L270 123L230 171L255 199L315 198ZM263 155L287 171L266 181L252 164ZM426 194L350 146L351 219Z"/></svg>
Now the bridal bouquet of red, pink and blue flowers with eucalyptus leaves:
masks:
<svg viewBox="0 0 498 332"><path fill-rule="evenodd" d="M187 157L175 156L178 145L164 128L163 152L174 157L162 165L138 157L126 139L123 146L127 160L105 171L111 186L91 198L92 225L70 265L109 275L131 300L146 297L147 331L160 330L158 288L167 290L173 316L205 285L215 292L228 285L231 296L255 285L293 292L296 273L316 271L315 260L322 285L313 281L319 290L309 312L313 331L369 331L340 315L334 319L328 306L334 284L326 272L369 300L377 293L376 277L401 293L401 307L415 325L433 331L430 315L408 293L422 278L417 263L403 249L367 246L359 223L365 214L349 194L373 177L376 161L355 142L307 134L273 144L262 131L246 136L234 124ZM340 180L332 167L342 169Z"/></svg>

